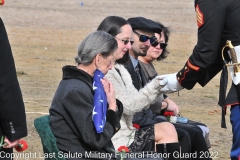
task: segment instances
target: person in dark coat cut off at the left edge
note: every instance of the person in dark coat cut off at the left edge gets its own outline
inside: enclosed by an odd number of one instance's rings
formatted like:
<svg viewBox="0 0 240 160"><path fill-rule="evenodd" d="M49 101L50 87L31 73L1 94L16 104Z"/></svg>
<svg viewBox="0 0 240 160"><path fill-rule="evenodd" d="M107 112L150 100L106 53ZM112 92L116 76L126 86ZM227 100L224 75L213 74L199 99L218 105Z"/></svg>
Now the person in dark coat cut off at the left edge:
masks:
<svg viewBox="0 0 240 160"><path fill-rule="evenodd" d="M13 153L21 138L27 136L27 122L11 46L0 18L0 154Z"/></svg>

